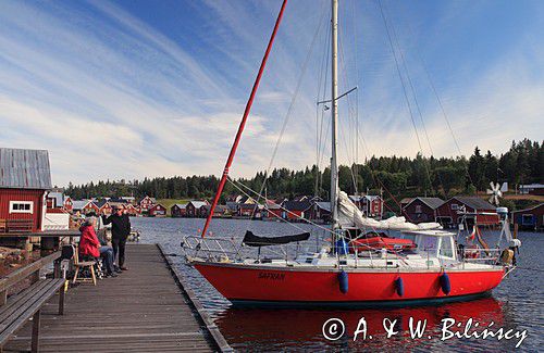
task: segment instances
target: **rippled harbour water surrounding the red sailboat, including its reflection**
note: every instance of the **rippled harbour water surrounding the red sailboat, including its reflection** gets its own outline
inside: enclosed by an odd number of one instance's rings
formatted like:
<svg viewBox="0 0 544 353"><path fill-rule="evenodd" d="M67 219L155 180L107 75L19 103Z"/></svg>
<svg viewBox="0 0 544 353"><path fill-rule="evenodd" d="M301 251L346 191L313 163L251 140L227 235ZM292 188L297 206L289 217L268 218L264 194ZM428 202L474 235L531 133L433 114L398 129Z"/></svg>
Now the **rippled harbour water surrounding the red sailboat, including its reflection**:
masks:
<svg viewBox="0 0 544 353"><path fill-rule="evenodd" d="M166 252L180 254L180 241L184 235L197 235L203 219L190 218L133 218L133 226L141 230L141 242L161 243ZM297 225L310 230L309 225ZM290 225L260 220L217 219L211 231L221 236L242 238L249 229L255 234L295 234ZM317 234L319 235L320 231ZM262 310L238 308L219 294L194 268L185 265L183 259L172 260L182 268L190 286L199 295L202 304L214 318L217 325L228 343L237 351L512 351L518 339L497 341L493 338L457 339L441 341L443 318L454 318L463 324L473 318L480 328L492 327L527 330L527 338L518 350L536 352L544 344L544 316L542 305L544 295L543 275L544 234L520 234L522 241L519 267L537 268L530 270L518 268L509 278L493 291L492 297L469 302L443 304L438 306L419 306L388 310ZM309 241L310 248L316 244ZM341 318L346 326L347 335L337 341L327 341L322 335L322 325L329 318ZM354 342L354 331L359 319L364 317L372 340L362 340L359 336ZM408 333L409 318L426 319L425 337L410 339ZM399 332L390 339L385 338L384 318L397 319L396 330ZM462 327L461 327L462 329ZM426 336L431 335L431 339Z"/></svg>

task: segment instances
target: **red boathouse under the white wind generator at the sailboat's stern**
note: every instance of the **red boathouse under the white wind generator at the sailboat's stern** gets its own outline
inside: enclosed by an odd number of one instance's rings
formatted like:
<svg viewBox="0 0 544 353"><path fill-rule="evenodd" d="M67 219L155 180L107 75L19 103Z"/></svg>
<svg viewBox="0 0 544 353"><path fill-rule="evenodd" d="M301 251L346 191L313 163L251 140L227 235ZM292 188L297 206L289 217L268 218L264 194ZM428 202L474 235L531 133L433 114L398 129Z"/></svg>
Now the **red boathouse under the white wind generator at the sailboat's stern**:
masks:
<svg viewBox="0 0 544 353"><path fill-rule="evenodd" d="M436 209L436 222L444 226L457 226L462 219L468 225L497 225L496 206L478 197L454 197Z"/></svg>

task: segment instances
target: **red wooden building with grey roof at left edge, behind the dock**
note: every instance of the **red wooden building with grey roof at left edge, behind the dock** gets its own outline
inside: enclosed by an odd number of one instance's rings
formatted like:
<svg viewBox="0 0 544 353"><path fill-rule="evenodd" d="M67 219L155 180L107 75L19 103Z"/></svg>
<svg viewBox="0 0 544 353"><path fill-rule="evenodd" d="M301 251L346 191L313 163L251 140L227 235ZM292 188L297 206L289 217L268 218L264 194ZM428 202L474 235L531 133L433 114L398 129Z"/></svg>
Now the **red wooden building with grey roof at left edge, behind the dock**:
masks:
<svg viewBox="0 0 544 353"><path fill-rule="evenodd" d="M0 232L44 230L49 153L0 148Z"/></svg>

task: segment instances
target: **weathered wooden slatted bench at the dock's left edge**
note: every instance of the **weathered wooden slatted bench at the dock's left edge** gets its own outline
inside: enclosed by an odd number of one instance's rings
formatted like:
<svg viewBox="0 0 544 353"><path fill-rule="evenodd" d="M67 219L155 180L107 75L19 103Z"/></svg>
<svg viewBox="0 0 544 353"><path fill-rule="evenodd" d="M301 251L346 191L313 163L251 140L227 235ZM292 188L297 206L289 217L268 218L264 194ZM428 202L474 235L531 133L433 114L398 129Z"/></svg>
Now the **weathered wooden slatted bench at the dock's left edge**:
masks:
<svg viewBox="0 0 544 353"><path fill-rule="evenodd" d="M59 291L59 315L64 314L64 278L39 279L39 272L61 256L55 252L0 279L0 348L28 319L33 319L32 352L39 351L39 326L41 306ZM59 263L55 262L54 275L59 277ZM17 282L30 277L32 285L20 293L8 298L8 290Z"/></svg>

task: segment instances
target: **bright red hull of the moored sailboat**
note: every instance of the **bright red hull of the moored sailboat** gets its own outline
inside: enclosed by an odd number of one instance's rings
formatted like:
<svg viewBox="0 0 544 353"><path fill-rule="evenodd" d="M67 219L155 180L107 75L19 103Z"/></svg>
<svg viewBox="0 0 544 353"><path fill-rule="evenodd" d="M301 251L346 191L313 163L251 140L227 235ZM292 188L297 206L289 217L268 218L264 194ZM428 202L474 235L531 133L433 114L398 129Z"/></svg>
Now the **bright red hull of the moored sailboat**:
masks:
<svg viewBox="0 0 544 353"><path fill-rule="evenodd" d="M503 269L448 272L452 291L444 294L440 272L351 272L347 293L339 291L338 272L240 267L195 263L195 267L227 300L263 302L374 302L436 300L484 293L500 283ZM404 295L395 279L400 276Z"/></svg>

